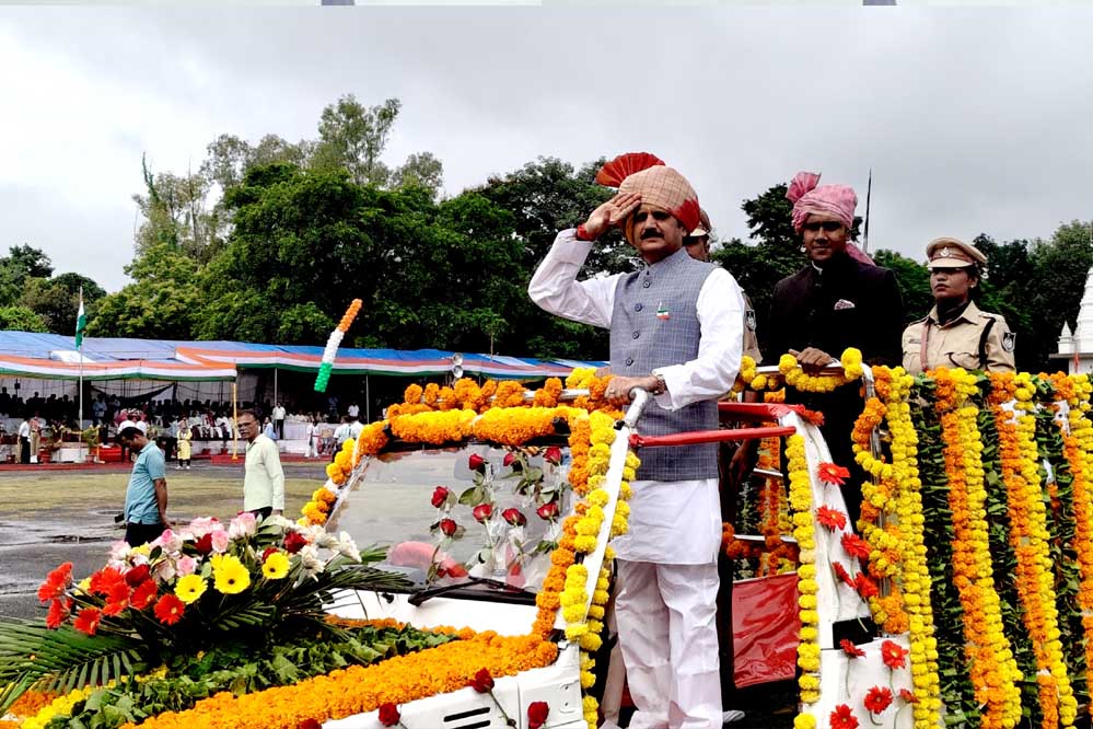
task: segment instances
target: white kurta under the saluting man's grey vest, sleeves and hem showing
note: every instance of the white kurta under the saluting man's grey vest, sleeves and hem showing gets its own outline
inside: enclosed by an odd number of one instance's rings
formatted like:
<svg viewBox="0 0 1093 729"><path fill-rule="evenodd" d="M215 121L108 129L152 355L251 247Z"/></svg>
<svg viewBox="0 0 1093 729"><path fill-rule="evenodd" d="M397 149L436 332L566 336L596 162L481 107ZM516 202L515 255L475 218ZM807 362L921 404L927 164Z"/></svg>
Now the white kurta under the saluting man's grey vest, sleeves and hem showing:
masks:
<svg viewBox="0 0 1093 729"><path fill-rule="evenodd" d="M558 234L539 264L527 293L546 311L584 324L611 328L615 289L625 274L577 280L592 251L575 231ZM698 294L701 339L698 356L658 368L667 392L656 404L675 410L726 393L736 379L744 337L744 299L723 268L710 273ZM638 423L641 430L641 423ZM716 478L632 484L629 532L612 542L620 559L676 565L708 564L721 544L721 501Z"/></svg>

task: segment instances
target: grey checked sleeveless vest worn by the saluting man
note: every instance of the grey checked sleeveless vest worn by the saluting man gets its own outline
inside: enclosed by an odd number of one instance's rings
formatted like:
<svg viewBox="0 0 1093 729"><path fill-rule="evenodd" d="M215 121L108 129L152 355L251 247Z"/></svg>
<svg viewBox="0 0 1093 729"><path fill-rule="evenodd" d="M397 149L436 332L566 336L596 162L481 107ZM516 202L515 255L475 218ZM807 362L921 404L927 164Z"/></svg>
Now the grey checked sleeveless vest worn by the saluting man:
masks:
<svg viewBox="0 0 1093 729"><path fill-rule="evenodd" d="M611 371L644 377L653 368L682 364L698 356L701 329L698 293L717 268L695 261L683 248L641 271L619 278L611 321ZM687 430L717 430L714 401L668 412L655 402L646 407L638 432L665 436ZM642 449L638 478L690 481L717 478L718 445Z"/></svg>

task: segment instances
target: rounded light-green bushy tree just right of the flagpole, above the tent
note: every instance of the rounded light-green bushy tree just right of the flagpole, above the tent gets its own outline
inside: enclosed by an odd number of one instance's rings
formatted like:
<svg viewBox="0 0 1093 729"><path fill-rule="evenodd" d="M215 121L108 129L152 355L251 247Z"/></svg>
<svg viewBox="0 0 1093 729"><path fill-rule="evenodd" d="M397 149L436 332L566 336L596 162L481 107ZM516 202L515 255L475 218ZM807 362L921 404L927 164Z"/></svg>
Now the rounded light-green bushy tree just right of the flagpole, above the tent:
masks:
<svg viewBox="0 0 1093 729"><path fill-rule="evenodd" d="M88 335L194 339L202 316L198 264L176 246L150 246L126 266L133 282L98 302Z"/></svg>

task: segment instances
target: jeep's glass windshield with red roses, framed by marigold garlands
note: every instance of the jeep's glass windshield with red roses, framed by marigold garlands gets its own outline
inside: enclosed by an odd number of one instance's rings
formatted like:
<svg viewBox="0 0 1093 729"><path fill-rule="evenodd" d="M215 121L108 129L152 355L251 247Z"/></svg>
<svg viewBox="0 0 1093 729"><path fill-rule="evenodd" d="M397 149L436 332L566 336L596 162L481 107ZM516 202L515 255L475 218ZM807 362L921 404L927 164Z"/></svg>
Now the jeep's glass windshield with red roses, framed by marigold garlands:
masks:
<svg viewBox="0 0 1093 729"><path fill-rule="evenodd" d="M379 566L404 574L415 592L485 586L534 594L571 508L568 470L568 448L558 447L385 453L350 485L327 529L388 545Z"/></svg>

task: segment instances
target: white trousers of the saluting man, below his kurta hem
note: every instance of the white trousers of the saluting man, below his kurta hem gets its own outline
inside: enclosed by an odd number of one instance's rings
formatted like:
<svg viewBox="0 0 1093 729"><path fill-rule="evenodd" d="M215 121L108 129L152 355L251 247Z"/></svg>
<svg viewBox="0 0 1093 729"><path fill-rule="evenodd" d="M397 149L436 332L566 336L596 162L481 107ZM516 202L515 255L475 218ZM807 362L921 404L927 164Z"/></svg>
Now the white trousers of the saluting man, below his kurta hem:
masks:
<svg viewBox="0 0 1093 729"><path fill-rule="evenodd" d="M615 564L630 729L721 729L717 564Z"/></svg>

